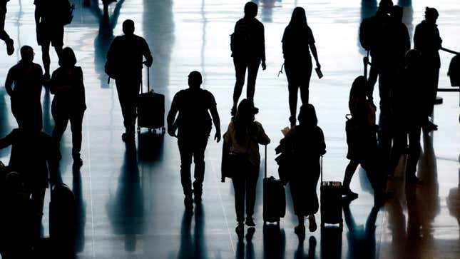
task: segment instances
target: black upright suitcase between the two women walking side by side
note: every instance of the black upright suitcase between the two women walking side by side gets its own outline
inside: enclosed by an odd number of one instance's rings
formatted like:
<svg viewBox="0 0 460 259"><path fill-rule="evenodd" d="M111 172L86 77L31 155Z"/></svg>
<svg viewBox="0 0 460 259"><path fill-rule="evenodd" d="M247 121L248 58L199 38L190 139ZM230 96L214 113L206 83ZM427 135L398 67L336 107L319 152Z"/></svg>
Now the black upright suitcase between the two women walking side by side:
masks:
<svg viewBox="0 0 460 259"><path fill-rule="evenodd" d="M280 218L286 214L285 186L273 176L267 178L267 146L265 146L265 178L263 180L263 218L264 224L280 223Z"/></svg>

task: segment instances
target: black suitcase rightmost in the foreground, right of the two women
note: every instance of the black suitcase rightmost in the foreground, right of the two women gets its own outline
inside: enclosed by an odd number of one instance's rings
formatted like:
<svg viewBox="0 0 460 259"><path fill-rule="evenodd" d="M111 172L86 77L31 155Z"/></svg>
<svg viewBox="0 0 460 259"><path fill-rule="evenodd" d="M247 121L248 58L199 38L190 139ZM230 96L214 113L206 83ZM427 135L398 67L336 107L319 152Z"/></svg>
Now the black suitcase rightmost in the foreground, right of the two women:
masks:
<svg viewBox="0 0 460 259"><path fill-rule="evenodd" d="M321 156L321 228L324 224L339 224L343 230L342 218L342 183L335 181L322 181L322 156Z"/></svg>

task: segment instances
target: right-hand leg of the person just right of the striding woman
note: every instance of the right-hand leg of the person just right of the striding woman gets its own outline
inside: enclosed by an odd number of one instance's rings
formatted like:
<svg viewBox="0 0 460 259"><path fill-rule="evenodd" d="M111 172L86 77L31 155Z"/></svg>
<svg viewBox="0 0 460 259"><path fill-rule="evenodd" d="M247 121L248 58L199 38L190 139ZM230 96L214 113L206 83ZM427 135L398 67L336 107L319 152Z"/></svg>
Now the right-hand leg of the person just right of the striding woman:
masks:
<svg viewBox="0 0 460 259"><path fill-rule="evenodd" d="M407 157L406 165L406 181L419 183L416 178L417 163L419 163L419 157L421 152L420 147L420 126L412 126L409 129L409 154Z"/></svg>

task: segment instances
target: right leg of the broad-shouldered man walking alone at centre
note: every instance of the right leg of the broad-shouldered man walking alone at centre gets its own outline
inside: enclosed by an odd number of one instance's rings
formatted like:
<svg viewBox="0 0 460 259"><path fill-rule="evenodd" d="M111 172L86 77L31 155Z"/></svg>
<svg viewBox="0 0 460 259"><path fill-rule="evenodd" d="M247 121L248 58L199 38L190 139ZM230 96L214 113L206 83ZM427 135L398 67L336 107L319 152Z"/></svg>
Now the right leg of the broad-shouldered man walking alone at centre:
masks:
<svg viewBox="0 0 460 259"><path fill-rule="evenodd" d="M193 194L195 202L201 200L203 194L203 181L205 179L205 150L208 144L208 138L203 138L195 142L193 147L193 163L195 163L195 172L193 181Z"/></svg>

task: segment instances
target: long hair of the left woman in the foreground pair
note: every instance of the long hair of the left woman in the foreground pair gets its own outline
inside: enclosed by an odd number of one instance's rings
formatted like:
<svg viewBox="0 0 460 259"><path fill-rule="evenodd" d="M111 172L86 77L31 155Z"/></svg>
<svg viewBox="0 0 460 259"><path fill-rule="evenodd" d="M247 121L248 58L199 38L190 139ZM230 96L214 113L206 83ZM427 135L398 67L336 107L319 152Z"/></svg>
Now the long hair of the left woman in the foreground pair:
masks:
<svg viewBox="0 0 460 259"><path fill-rule="evenodd" d="M245 142L246 133L255 120L255 114L257 114L257 110L254 107L254 103L250 100L243 99L240 105L238 105L235 120L233 121L237 143L242 144Z"/></svg>

